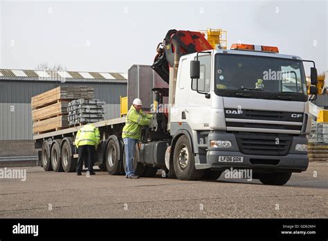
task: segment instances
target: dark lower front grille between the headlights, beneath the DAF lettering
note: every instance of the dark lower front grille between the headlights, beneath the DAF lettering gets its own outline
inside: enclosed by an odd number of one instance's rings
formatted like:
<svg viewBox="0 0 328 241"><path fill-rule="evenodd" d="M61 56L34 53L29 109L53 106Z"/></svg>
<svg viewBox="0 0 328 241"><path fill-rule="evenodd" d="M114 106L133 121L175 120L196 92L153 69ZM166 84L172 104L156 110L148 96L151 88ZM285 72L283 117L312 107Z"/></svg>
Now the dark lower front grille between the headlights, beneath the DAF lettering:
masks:
<svg viewBox="0 0 328 241"><path fill-rule="evenodd" d="M235 133L237 145L243 154L285 156L291 149L293 136L289 134Z"/></svg>

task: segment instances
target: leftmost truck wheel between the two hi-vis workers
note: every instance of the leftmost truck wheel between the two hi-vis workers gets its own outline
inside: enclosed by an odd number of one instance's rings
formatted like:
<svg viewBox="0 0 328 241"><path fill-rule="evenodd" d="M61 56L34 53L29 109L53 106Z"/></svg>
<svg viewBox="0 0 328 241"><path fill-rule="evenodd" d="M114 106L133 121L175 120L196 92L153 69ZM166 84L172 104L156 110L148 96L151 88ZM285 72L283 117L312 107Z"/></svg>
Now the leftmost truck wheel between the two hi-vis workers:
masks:
<svg viewBox="0 0 328 241"><path fill-rule="evenodd" d="M118 150L120 148L118 148L117 143L113 139L109 140L106 148L105 161L110 175L121 174L120 152Z"/></svg>

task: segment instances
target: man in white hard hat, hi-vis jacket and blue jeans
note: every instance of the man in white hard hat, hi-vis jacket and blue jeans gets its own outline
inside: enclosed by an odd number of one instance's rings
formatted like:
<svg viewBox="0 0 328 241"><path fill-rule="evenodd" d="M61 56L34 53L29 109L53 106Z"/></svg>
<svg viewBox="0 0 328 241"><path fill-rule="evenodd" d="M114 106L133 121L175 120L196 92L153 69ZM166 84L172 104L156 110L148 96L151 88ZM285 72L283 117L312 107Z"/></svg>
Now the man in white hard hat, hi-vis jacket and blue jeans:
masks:
<svg viewBox="0 0 328 241"><path fill-rule="evenodd" d="M141 136L143 125L149 125L152 114L145 114L141 109L143 102L136 98L132 102L131 108L125 118L125 126L122 130L122 139L125 145L125 177L138 179L139 176L134 174L133 161L136 143Z"/></svg>

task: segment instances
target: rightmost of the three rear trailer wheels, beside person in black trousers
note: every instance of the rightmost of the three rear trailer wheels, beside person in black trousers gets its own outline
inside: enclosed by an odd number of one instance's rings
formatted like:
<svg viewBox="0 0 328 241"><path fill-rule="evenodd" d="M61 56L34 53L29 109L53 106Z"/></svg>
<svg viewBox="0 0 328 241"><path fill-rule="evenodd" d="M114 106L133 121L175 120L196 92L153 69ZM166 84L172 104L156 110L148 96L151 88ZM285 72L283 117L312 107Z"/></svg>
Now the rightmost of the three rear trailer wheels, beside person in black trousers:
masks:
<svg viewBox="0 0 328 241"><path fill-rule="evenodd" d="M78 165L78 159L73 158L72 143L73 139L65 138L62 145L62 167L64 172L75 172L76 166Z"/></svg>

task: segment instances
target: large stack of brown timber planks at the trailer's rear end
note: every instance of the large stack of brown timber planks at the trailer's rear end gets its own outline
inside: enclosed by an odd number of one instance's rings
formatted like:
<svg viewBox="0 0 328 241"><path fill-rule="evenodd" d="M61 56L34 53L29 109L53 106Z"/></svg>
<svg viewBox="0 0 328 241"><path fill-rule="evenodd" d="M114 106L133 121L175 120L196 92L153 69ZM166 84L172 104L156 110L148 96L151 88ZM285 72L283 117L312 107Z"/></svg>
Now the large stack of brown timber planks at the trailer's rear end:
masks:
<svg viewBox="0 0 328 241"><path fill-rule="evenodd" d="M74 99L94 98L93 89L86 86L57 87L33 96L33 133L42 134L69 127L67 107Z"/></svg>

